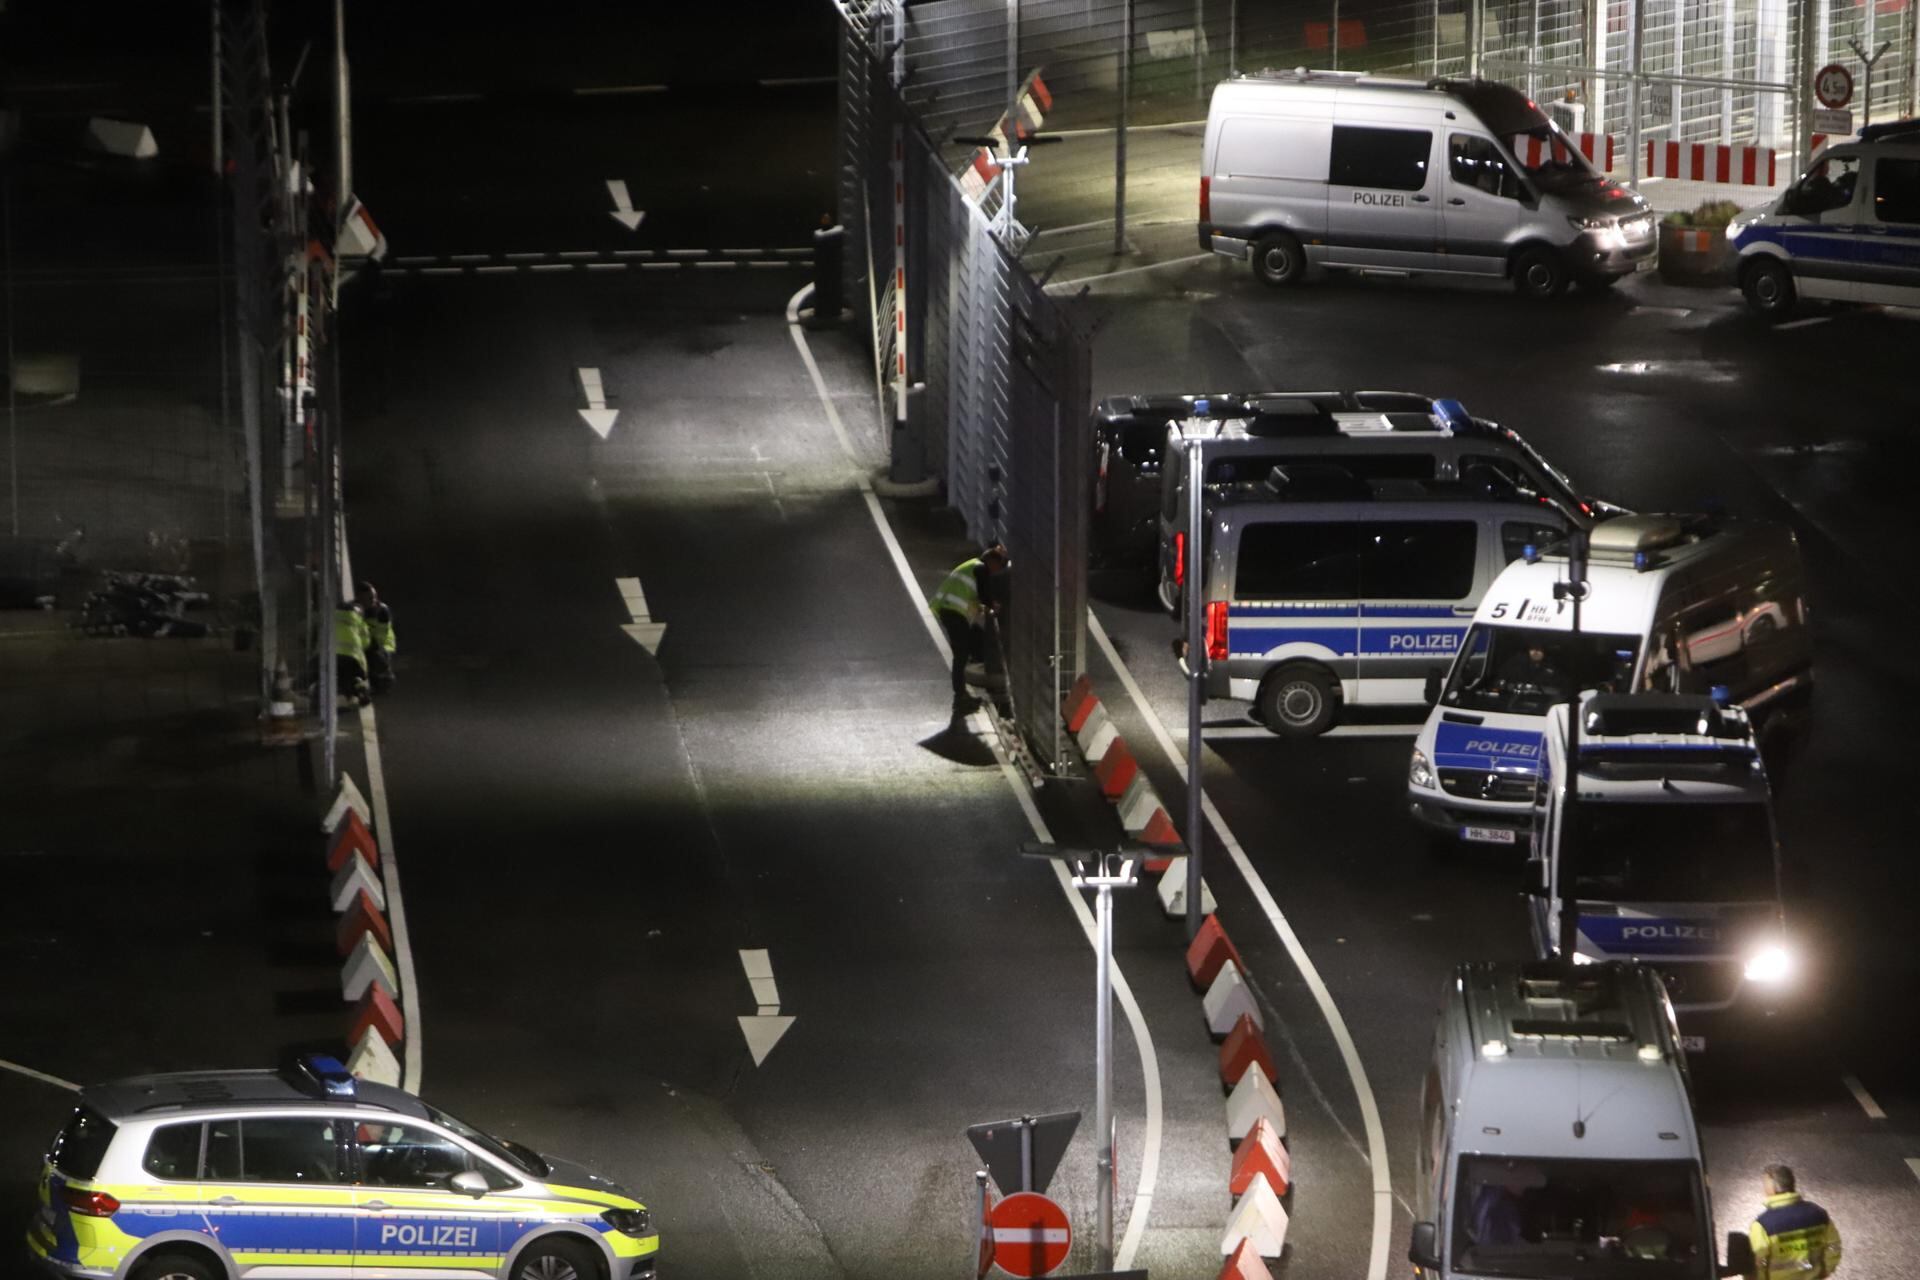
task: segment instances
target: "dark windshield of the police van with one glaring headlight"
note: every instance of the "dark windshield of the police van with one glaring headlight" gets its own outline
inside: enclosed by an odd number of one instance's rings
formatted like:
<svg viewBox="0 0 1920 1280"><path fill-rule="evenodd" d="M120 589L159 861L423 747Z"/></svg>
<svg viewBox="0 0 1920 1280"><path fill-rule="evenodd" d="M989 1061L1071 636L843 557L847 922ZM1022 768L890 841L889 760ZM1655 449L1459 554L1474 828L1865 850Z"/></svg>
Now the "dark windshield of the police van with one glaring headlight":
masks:
<svg viewBox="0 0 1920 1280"><path fill-rule="evenodd" d="M1574 808L1574 896L1592 902L1774 902L1774 829L1766 804L1620 804Z"/></svg>

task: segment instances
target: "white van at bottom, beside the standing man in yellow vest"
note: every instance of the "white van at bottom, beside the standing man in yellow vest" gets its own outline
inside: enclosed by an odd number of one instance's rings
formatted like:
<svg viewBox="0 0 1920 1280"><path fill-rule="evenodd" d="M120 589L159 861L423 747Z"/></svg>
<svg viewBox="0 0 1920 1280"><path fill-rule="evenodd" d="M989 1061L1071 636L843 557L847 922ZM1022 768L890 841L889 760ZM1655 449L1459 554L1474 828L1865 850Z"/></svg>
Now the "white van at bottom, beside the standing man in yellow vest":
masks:
<svg viewBox="0 0 1920 1280"><path fill-rule="evenodd" d="M1724 1274L1686 1054L1642 965L1455 969L1413 1167L1419 1276Z"/></svg>

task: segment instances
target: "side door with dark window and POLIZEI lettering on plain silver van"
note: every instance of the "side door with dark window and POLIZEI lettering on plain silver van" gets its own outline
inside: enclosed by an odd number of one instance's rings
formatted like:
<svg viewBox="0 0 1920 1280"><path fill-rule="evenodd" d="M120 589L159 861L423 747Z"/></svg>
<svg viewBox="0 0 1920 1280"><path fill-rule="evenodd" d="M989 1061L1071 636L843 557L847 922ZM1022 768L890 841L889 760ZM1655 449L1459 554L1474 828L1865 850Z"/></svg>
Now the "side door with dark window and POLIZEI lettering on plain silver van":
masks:
<svg viewBox="0 0 1920 1280"><path fill-rule="evenodd" d="M1430 271L1440 190L1430 129L1334 125L1327 178L1327 263Z"/></svg>

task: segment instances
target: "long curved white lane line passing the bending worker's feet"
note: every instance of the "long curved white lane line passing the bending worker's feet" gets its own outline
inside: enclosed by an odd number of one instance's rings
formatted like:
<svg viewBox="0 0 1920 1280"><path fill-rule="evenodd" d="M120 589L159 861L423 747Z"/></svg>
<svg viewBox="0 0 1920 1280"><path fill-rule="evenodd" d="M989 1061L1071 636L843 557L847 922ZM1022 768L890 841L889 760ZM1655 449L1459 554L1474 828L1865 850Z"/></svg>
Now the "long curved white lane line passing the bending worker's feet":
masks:
<svg viewBox="0 0 1920 1280"><path fill-rule="evenodd" d="M887 524L887 512L879 505L879 497L874 493L874 482L866 474L866 466L860 464L860 455L852 449L852 439L847 436L847 426L841 422L839 411L833 407L833 397L828 395L826 378L820 376L820 365L814 361L812 347L806 345L806 334L801 328L801 299L812 294L812 284L803 284L793 297L787 299L787 334L793 338L795 349L801 353L801 363L806 365L806 376L814 382L814 393L820 397L820 405L828 411L828 424L833 428L833 438L839 439L841 453L854 468L854 480L860 487L860 497L866 499L866 510L874 518L874 528L879 532L879 539L887 545L887 558L893 560L893 570L900 576L900 583L906 587L908 599L914 603L914 614L920 618L920 626L927 629L933 639L933 647L939 649L941 660L952 664L952 649L947 647L947 633L941 631L941 624L933 620L933 610L922 606L920 583L914 580L914 568L906 562L906 553L900 551L900 539L893 535L893 526ZM1054 842L1052 831L1046 829L1046 819L1041 818L1039 806L1033 802L1033 789L1027 787L1027 779L1014 768L1012 758L1000 745L1000 735L987 723L987 712L973 712L968 722L973 725L975 735L987 741L993 748L993 758L1000 764L1000 777L1006 779L1008 791L1014 793L1014 800L1020 802L1020 812L1027 816L1027 827L1039 841ZM1087 908L1087 900L1073 889L1073 875L1068 871L1064 862L1050 862L1054 869L1054 883L1060 885L1060 892L1066 896L1068 904L1073 908L1075 919L1079 919L1081 935L1087 938L1087 946L1098 952L1100 935L1094 927L1092 912ZM1129 1270L1133 1267L1133 1257L1140 1247L1140 1238L1146 1234L1146 1219L1154 1211L1154 1188L1160 1182L1160 1140L1165 1126L1165 1103L1160 1090L1160 1055L1154 1052L1154 1038L1146 1029L1146 1015L1140 1011L1140 1002L1133 996L1133 984L1127 983L1125 971L1119 961L1114 961L1114 1000L1119 1002L1121 1011L1127 1015L1127 1027L1133 1031L1133 1046L1140 1057L1140 1084L1146 1092L1146 1126L1140 1134L1140 1180L1133 1188L1133 1209L1127 1213L1127 1228L1121 1232L1119 1251L1114 1255L1116 1270Z"/></svg>

